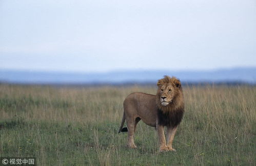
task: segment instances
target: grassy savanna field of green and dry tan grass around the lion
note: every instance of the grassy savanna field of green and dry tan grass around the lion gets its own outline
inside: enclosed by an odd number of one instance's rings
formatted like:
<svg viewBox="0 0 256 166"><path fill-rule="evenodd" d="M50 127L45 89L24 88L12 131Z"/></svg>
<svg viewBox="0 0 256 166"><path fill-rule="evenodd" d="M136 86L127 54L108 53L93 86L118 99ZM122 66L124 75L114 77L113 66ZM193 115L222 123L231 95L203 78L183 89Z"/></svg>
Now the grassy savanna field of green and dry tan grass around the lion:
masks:
<svg viewBox="0 0 256 166"><path fill-rule="evenodd" d="M185 114L158 152L154 128L140 122L137 149L117 133L123 101L156 87L0 85L0 156L34 156L37 165L255 165L256 87L184 87Z"/></svg>

